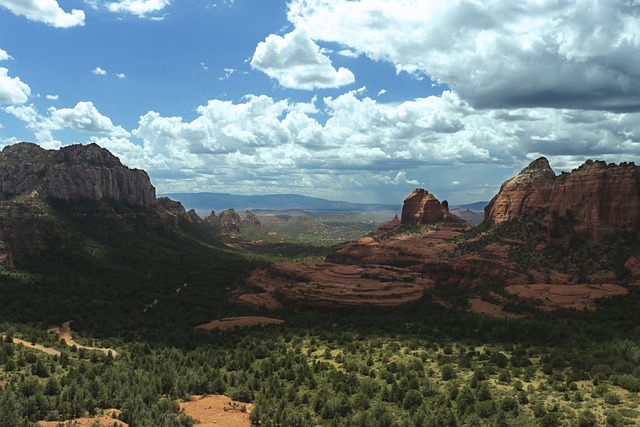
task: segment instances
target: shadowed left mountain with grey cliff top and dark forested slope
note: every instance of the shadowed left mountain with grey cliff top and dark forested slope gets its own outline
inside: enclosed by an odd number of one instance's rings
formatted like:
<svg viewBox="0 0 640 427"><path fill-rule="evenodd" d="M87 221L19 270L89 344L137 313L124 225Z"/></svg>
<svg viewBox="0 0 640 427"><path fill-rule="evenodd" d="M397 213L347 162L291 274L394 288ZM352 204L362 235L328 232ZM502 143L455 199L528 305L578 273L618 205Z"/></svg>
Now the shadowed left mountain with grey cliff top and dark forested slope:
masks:
<svg viewBox="0 0 640 427"><path fill-rule="evenodd" d="M179 203L159 203L144 171L95 145L7 147L0 189L5 321L74 319L81 330L135 334L205 321L225 310L228 285L260 265L203 233Z"/></svg>

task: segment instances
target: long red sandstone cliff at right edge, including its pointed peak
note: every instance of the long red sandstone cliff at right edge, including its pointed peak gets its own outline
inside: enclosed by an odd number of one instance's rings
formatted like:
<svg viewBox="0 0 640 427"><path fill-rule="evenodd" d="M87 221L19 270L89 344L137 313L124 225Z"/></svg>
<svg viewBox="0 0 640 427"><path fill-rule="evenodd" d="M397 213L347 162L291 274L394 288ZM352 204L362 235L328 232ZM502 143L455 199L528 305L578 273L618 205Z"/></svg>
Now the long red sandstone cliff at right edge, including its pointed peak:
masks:
<svg viewBox="0 0 640 427"><path fill-rule="evenodd" d="M485 208L485 219L500 223L545 211L549 239L568 228L597 240L640 226L640 168L633 163L586 161L556 177L541 157L500 187Z"/></svg>

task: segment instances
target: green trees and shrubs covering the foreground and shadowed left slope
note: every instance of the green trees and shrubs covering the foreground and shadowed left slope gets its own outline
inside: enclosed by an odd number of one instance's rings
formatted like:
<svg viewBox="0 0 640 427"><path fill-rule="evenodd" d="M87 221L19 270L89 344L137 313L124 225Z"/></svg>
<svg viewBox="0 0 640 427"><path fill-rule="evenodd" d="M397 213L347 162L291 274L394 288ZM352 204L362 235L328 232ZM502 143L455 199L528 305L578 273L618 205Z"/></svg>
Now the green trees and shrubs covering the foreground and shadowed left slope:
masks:
<svg viewBox="0 0 640 427"><path fill-rule="evenodd" d="M283 325L195 331L216 318L264 314L229 300L266 255L230 249L189 224L149 223L148 212L129 206L52 209L59 246L17 253L15 269L0 273L0 426L110 408L132 427L191 426L177 402L223 393L252 402L260 426L622 426L640 418L638 288L597 312L500 319L427 295L397 309L282 309L270 315ZM67 320L79 342L117 357L46 332Z"/></svg>

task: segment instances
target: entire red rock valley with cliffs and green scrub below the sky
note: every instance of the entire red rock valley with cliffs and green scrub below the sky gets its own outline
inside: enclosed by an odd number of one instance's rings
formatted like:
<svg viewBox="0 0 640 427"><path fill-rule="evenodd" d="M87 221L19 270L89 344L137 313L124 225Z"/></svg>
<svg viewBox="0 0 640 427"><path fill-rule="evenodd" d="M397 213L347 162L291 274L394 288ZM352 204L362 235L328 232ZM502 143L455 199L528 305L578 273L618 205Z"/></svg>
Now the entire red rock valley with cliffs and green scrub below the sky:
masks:
<svg viewBox="0 0 640 427"><path fill-rule="evenodd" d="M95 144L19 143L0 199L2 426L640 419L632 163L539 158L472 226L424 189L384 222L203 215Z"/></svg>

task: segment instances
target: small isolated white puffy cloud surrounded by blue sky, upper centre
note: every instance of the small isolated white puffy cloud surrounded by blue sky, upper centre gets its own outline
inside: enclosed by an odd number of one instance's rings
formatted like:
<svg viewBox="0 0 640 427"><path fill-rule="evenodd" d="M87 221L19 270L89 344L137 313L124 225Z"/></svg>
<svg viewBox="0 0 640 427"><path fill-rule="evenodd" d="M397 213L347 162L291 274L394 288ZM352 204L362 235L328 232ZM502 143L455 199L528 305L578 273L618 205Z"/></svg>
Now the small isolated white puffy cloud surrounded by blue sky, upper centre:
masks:
<svg viewBox="0 0 640 427"><path fill-rule="evenodd" d="M256 47L251 66L291 89L336 88L355 81L350 70L336 69L302 30L295 30L284 37L268 36Z"/></svg>

